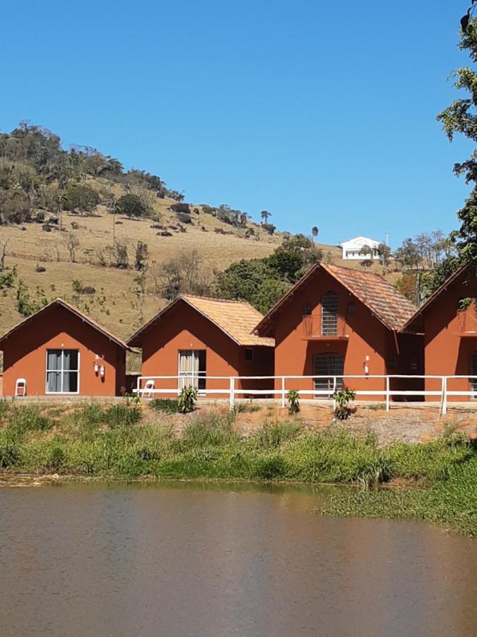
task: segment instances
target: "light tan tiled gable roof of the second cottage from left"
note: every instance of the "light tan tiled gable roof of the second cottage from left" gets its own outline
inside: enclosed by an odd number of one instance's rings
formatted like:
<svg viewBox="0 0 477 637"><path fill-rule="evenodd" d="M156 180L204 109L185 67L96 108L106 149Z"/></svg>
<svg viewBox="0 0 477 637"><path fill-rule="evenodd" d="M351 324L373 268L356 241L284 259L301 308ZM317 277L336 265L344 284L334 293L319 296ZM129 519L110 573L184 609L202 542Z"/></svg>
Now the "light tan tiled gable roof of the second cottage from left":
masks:
<svg viewBox="0 0 477 637"><path fill-rule="evenodd" d="M264 338L252 333L254 327L264 316L250 304L243 301L194 297L190 294L181 294L174 299L163 310L153 316L151 321L148 321L146 325L134 333L131 338L129 338L128 344L140 345L141 335L153 327L160 319L163 319L170 309L179 303L187 303L194 308L234 340L237 345L245 345L246 347L264 345L270 348L273 348L273 345L275 345L273 338Z"/></svg>

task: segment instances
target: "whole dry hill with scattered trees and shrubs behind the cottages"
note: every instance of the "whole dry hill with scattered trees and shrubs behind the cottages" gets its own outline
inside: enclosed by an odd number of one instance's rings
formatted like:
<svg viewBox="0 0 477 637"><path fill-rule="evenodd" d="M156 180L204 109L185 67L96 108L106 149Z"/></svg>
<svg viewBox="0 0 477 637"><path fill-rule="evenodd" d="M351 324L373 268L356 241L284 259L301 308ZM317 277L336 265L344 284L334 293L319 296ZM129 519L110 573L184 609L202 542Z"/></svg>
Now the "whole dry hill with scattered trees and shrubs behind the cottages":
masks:
<svg viewBox="0 0 477 637"><path fill-rule="evenodd" d="M71 188L78 185L97 198L89 212L71 203ZM111 205L131 194L147 207L144 216L128 217ZM23 123L0 134L0 258L6 247L0 277L14 273L13 285L0 285L0 332L23 319L21 294L32 306L62 297L126 338L167 302L158 282L161 264L194 257L192 277L213 282L216 271L235 261L269 256L288 234L270 226L267 231L266 224L227 207L189 204L190 217L184 217L177 210L182 199L157 176L125 172L95 149L66 151L56 135L39 127ZM139 281L134 260L141 242L148 268ZM129 263L118 267L114 246L122 247ZM317 247L326 261L343 263L340 248ZM371 269L382 272L379 265Z"/></svg>

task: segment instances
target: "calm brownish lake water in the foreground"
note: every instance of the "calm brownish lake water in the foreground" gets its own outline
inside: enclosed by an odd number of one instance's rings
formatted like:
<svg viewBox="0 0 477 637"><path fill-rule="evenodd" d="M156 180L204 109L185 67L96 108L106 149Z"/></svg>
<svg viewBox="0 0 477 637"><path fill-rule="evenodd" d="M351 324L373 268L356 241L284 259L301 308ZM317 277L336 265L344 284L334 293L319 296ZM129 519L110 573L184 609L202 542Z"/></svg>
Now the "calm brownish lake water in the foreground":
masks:
<svg viewBox="0 0 477 637"><path fill-rule="evenodd" d="M324 494L2 488L0 634L477 635L477 542L312 515Z"/></svg>

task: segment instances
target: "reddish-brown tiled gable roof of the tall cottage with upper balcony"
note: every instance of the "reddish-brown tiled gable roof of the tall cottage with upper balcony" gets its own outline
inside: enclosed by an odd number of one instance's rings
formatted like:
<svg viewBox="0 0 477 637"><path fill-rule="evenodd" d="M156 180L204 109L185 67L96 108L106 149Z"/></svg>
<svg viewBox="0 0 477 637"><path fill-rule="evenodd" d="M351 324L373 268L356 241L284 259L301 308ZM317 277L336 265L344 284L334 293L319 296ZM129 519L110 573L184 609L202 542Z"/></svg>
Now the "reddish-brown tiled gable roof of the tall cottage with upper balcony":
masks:
<svg viewBox="0 0 477 637"><path fill-rule="evenodd" d="M327 265L318 261L264 316L264 319L255 328L255 332L261 335L269 334L273 319L278 312L291 301L293 294L305 285L318 270L328 272L343 287L346 287L348 292L351 292L354 297L367 306L372 314L375 314L377 319L391 331L399 331L416 312L416 306L381 275L374 272L359 272L351 270L351 268L342 268L339 265Z"/></svg>

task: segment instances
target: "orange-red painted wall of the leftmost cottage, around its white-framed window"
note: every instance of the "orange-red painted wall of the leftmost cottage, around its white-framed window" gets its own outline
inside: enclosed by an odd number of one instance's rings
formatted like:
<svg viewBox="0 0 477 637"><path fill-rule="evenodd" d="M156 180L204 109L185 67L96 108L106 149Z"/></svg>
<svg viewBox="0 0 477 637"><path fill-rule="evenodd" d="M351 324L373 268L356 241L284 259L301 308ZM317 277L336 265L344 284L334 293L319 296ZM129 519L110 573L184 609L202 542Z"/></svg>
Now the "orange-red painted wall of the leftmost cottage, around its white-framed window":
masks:
<svg viewBox="0 0 477 637"><path fill-rule="evenodd" d="M79 396L119 396L125 384L124 348L61 306L52 306L26 323L2 348L4 396L15 394L17 378L26 379L28 396L45 396L47 349L79 350ZM105 360L104 377L94 372L97 354Z"/></svg>

